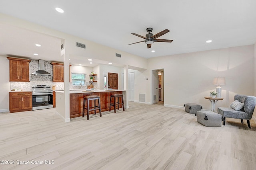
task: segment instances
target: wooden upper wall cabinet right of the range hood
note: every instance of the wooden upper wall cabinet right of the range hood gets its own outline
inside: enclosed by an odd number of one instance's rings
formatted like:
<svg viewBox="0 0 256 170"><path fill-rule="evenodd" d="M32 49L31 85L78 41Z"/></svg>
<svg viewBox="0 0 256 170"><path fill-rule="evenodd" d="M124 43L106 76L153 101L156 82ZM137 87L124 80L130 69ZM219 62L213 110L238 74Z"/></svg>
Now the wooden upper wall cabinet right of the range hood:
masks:
<svg viewBox="0 0 256 170"><path fill-rule="evenodd" d="M52 64L52 82L64 82L64 64L62 63L51 63ZM69 65L69 75L70 75ZM69 76L70 82L70 76Z"/></svg>

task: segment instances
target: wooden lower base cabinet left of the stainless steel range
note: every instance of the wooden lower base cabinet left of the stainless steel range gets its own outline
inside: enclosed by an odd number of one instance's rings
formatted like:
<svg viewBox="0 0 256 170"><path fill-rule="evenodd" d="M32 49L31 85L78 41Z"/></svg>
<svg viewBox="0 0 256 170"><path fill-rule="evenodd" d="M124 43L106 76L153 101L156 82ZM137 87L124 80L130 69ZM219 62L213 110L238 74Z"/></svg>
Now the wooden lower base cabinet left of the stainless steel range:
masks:
<svg viewBox="0 0 256 170"><path fill-rule="evenodd" d="M32 92L10 92L10 113L32 110Z"/></svg>

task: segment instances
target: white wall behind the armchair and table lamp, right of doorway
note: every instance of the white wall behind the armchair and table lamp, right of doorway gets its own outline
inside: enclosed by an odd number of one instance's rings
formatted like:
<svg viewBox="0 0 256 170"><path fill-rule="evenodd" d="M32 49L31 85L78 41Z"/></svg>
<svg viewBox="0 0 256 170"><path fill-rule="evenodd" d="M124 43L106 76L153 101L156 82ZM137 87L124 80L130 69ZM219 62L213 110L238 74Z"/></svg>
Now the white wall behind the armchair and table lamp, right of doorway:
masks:
<svg viewBox="0 0 256 170"><path fill-rule="evenodd" d="M229 106L235 94L254 95L254 45L156 57L148 61L148 70L164 68L165 106L193 102L209 109L210 102L204 96L215 90L212 82L217 76L226 77L226 86L222 86L224 100L216 107ZM150 102L150 95L146 100Z"/></svg>

